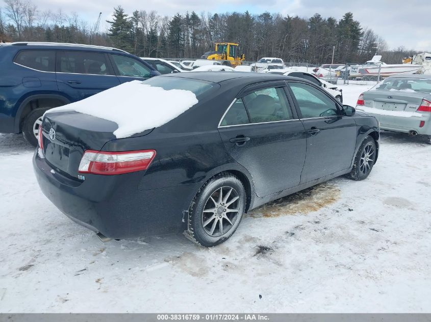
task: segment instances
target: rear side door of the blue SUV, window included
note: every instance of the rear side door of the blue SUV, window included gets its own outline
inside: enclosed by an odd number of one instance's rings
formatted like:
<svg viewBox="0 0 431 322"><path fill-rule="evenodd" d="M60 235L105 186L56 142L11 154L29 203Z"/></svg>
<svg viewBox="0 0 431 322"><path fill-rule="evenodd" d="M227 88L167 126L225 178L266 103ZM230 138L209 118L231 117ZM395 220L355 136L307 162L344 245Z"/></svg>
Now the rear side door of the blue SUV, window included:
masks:
<svg viewBox="0 0 431 322"><path fill-rule="evenodd" d="M56 80L60 92L78 101L119 85L106 53L57 50Z"/></svg>

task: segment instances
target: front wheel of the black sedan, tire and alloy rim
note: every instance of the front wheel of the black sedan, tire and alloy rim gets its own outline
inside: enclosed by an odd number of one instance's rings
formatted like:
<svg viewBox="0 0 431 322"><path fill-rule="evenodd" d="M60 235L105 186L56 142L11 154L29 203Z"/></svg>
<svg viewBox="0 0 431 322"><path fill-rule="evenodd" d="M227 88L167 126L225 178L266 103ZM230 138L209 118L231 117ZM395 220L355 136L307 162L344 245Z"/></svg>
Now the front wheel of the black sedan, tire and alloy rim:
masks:
<svg viewBox="0 0 431 322"><path fill-rule="evenodd" d="M377 149L375 140L371 136L367 136L361 143L358 153L354 157L353 168L347 177L353 180L364 180L368 177L375 159L377 156Z"/></svg>

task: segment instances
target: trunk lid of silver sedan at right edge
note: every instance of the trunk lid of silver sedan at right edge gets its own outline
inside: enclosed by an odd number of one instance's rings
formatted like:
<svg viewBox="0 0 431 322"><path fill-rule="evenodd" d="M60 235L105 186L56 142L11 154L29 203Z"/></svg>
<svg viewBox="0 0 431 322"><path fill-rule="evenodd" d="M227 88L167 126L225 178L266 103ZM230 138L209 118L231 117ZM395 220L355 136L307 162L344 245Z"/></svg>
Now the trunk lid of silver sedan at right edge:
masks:
<svg viewBox="0 0 431 322"><path fill-rule="evenodd" d="M368 91L364 93L364 104L382 110L414 112L425 96L414 91Z"/></svg>

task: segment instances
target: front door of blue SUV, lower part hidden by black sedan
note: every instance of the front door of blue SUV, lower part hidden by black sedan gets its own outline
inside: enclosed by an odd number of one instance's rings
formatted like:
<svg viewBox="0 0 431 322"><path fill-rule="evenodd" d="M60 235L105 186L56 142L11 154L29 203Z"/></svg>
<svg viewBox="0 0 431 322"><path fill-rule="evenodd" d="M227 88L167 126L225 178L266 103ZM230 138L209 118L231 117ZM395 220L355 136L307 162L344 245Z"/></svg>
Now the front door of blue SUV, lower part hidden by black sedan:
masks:
<svg viewBox="0 0 431 322"><path fill-rule="evenodd" d="M121 83L151 77L151 68L140 60L121 54L110 54L109 57Z"/></svg>

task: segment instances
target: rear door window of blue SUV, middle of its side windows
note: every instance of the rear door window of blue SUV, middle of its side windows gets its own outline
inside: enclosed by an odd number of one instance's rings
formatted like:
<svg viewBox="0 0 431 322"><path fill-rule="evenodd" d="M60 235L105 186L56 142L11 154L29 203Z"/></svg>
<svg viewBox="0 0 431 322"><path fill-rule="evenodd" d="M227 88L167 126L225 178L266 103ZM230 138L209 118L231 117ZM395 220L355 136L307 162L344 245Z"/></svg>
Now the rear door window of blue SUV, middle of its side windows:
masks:
<svg viewBox="0 0 431 322"><path fill-rule="evenodd" d="M113 75L104 53L86 51L58 51L60 73Z"/></svg>

